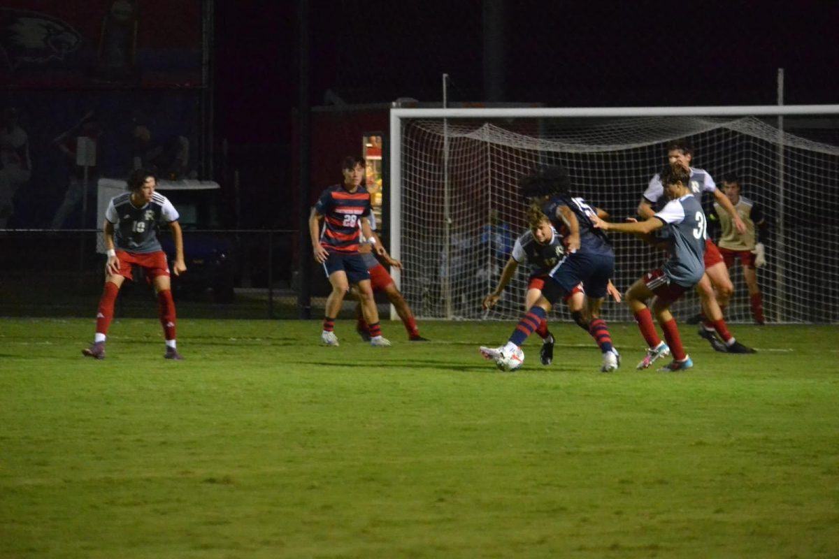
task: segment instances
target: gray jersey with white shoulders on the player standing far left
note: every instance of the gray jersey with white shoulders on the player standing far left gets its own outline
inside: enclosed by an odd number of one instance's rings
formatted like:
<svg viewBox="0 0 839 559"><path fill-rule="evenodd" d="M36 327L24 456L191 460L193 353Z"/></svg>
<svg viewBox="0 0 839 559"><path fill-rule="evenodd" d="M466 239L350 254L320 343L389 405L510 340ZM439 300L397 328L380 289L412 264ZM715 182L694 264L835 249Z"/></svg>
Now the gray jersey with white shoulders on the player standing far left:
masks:
<svg viewBox="0 0 839 559"><path fill-rule="evenodd" d="M155 192L149 204L138 208L131 203L131 193L114 196L105 210L105 219L115 225L117 249L148 253L161 250L157 231L161 223L177 221L180 215L163 194Z"/></svg>

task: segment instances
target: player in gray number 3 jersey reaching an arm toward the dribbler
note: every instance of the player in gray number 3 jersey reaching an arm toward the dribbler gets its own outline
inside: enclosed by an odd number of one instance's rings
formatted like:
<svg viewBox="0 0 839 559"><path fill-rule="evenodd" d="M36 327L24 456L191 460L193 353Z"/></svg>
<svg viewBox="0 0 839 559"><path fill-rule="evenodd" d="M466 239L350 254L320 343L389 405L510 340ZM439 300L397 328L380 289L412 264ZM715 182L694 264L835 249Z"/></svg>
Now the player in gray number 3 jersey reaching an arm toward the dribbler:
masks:
<svg viewBox="0 0 839 559"><path fill-rule="evenodd" d="M693 288L705 273L706 219L699 200L691 194L691 175L686 168L674 163L664 168L658 176L664 185L664 194L670 201L649 219L635 223L608 223L593 216L591 220L601 230L643 236L666 228L668 235L663 239L670 257L662 267L647 272L629 287L626 302L649 347L647 355L638 363L638 369L647 369L654 360L672 351L673 362L659 370L685 370L693 366L693 361L682 347L670 305L685 291ZM666 344L655 331L647 304L650 299L652 312L664 332Z"/></svg>

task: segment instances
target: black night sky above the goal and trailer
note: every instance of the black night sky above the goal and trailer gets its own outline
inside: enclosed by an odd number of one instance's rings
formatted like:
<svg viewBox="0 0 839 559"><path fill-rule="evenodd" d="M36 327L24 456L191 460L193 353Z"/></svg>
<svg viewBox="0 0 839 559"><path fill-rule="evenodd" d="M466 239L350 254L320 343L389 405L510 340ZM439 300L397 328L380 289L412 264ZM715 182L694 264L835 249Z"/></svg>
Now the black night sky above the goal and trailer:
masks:
<svg viewBox="0 0 839 559"><path fill-rule="evenodd" d="M281 142L299 96L298 2L216 3L217 130ZM311 105L486 101L480 2L309 3ZM494 2L503 98L547 106L834 103L839 3ZM633 5L635 4L635 5Z"/></svg>

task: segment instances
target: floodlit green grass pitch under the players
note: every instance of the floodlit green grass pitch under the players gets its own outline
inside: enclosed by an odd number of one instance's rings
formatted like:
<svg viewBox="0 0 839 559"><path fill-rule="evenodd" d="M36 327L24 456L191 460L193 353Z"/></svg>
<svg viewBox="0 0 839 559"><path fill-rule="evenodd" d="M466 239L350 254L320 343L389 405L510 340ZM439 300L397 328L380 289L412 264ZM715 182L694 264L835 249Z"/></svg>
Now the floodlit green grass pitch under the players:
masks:
<svg viewBox="0 0 839 559"><path fill-rule="evenodd" d="M836 557L839 329L615 373L576 326L500 373L512 323L0 319L0 557ZM659 365L656 363L655 365ZM661 364L663 365L663 363Z"/></svg>

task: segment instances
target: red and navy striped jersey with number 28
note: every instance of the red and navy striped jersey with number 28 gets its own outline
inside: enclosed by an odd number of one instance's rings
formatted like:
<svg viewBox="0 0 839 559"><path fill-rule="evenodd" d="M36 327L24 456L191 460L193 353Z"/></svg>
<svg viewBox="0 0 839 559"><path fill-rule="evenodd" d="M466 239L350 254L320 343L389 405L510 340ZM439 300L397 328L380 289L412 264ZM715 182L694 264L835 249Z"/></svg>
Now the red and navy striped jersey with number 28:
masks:
<svg viewBox="0 0 839 559"><path fill-rule="evenodd" d="M357 252L358 222L373 213L370 193L363 186L347 192L343 184L335 184L320 194L315 211L324 216L320 245L339 252Z"/></svg>

